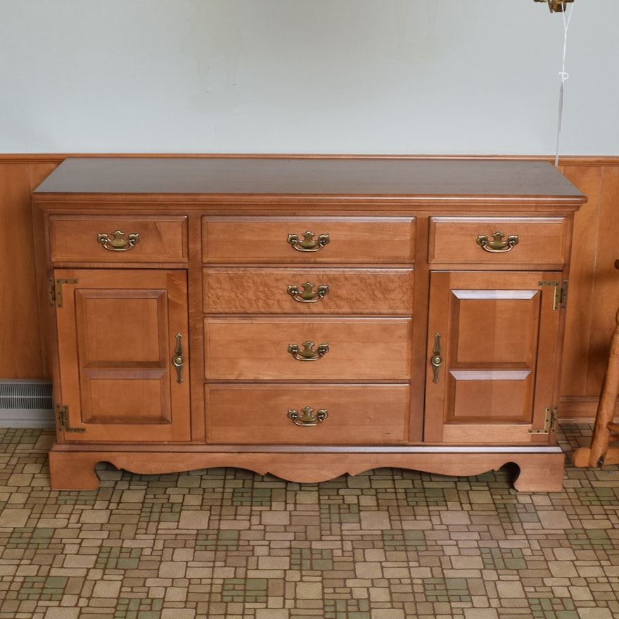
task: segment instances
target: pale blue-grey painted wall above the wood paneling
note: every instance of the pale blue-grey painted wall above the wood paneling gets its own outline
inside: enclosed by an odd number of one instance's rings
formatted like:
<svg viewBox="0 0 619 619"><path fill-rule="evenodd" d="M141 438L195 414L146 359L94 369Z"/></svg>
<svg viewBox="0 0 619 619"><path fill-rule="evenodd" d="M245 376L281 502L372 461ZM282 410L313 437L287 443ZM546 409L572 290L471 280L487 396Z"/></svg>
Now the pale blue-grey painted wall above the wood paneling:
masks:
<svg viewBox="0 0 619 619"><path fill-rule="evenodd" d="M562 155L619 155L619 2L575 0ZM554 155L533 0L0 0L0 152Z"/></svg>

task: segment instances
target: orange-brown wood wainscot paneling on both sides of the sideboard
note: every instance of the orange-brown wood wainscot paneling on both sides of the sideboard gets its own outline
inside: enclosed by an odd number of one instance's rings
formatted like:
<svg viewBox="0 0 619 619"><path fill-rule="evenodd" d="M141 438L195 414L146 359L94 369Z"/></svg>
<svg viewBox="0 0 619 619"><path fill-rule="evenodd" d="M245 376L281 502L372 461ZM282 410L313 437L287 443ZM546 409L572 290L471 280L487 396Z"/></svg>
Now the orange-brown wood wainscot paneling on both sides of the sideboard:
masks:
<svg viewBox="0 0 619 619"><path fill-rule="evenodd" d="M30 192L65 156L0 155L0 378L51 377L44 237ZM619 307L619 158L568 158L561 170L589 201L575 219L559 414L592 418Z"/></svg>

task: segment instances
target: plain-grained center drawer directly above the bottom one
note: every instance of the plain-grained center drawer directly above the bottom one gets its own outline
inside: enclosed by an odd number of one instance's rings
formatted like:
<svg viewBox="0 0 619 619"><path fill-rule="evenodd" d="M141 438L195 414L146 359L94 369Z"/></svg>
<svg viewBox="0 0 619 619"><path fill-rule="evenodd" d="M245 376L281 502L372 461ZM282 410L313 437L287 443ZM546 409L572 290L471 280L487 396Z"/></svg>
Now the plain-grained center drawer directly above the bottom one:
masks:
<svg viewBox="0 0 619 619"><path fill-rule="evenodd" d="M205 319L210 381L398 382L410 319Z"/></svg>

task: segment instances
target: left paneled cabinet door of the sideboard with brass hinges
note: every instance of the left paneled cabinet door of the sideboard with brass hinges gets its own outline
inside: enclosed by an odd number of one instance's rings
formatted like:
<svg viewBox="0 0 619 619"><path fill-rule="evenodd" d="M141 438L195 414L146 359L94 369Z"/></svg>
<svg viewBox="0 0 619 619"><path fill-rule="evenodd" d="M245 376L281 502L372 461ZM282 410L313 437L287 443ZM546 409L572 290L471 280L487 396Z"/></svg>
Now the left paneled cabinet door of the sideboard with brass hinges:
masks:
<svg viewBox="0 0 619 619"><path fill-rule="evenodd" d="M54 272L66 441L190 440L184 271Z"/></svg>

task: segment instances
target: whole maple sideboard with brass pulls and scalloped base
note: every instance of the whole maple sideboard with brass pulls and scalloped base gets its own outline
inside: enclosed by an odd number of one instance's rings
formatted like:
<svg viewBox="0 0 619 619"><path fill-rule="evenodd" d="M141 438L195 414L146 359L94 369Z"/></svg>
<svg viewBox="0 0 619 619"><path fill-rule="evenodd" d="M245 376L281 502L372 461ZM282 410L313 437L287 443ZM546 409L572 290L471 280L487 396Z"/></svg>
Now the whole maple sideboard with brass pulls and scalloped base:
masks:
<svg viewBox="0 0 619 619"><path fill-rule="evenodd" d="M300 483L513 463L517 490L561 490L586 198L548 162L68 158L32 199L53 488L98 487L105 461Z"/></svg>

